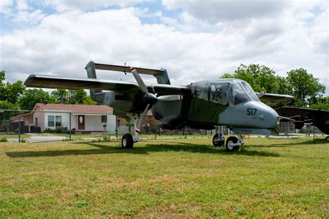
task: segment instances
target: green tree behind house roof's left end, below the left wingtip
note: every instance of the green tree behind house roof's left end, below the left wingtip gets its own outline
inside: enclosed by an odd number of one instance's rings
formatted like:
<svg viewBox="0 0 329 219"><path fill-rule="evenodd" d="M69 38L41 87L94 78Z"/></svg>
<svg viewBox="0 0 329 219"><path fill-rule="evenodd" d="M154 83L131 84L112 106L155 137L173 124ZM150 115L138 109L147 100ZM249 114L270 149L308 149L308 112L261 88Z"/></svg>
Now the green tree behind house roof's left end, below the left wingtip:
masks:
<svg viewBox="0 0 329 219"><path fill-rule="evenodd" d="M32 110L35 104L44 103L56 103L56 100L52 98L47 91L42 89L27 89L22 96L19 97L18 103L21 109Z"/></svg>

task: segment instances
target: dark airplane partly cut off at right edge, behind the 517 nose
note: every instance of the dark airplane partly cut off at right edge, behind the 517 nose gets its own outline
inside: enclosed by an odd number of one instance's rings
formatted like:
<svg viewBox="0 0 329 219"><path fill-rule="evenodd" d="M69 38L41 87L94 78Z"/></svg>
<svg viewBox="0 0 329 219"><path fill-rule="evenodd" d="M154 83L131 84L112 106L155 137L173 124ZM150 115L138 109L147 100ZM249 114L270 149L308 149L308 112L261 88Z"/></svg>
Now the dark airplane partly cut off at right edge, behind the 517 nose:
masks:
<svg viewBox="0 0 329 219"><path fill-rule="evenodd" d="M276 109L280 115L293 119L295 128L300 130L305 123L312 123L324 134L329 134L329 110L301 107L280 107ZM326 137L329 141L329 136Z"/></svg>

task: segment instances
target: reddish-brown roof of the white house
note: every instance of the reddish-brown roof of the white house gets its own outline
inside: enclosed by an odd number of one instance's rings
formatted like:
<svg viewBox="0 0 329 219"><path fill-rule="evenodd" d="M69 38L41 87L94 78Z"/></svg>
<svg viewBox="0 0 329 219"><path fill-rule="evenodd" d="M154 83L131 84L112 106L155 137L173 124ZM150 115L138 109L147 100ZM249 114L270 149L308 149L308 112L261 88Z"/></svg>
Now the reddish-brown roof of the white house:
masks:
<svg viewBox="0 0 329 219"><path fill-rule="evenodd" d="M44 104L37 103L33 109L40 109L44 111L60 110L60 111L71 111L74 114L108 114L113 109L106 105L76 105L76 104Z"/></svg>

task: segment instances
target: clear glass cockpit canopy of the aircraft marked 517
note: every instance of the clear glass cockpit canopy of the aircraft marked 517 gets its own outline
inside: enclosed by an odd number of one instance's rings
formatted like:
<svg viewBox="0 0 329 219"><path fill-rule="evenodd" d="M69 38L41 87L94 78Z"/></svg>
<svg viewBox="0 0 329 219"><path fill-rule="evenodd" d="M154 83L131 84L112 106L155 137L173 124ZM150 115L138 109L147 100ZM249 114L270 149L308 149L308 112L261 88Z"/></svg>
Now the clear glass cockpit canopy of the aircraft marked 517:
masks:
<svg viewBox="0 0 329 219"><path fill-rule="evenodd" d="M201 81L192 84L192 96L220 105L260 101L250 85L239 79Z"/></svg>

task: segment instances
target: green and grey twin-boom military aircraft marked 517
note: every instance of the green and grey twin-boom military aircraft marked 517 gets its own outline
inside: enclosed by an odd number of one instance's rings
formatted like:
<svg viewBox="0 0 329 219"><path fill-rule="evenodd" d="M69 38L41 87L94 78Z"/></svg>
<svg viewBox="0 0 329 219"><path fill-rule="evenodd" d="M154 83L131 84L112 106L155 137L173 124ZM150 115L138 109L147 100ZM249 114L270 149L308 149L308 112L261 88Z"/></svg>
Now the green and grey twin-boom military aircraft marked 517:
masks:
<svg viewBox="0 0 329 219"><path fill-rule="evenodd" d="M192 82L174 86L165 69L143 69L92 61L85 67L88 78L63 78L59 76L28 76L24 85L56 89L90 89L92 100L113 108L113 114L133 121L134 136L124 134L122 148L133 148L139 141L139 133L146 114L152 110L161 128L198 128L213 130L215 125L225 125L237 137L215 134L214 146L235 151L244 144L242 134L266 134L274 132L280 116L260 100L289 100L292 96L255 93L244 80L219 79ZM136 82L96 79L96 69L133 73ZM152 75L158 84L145 84L140 73Z"/></svg>

